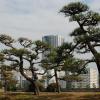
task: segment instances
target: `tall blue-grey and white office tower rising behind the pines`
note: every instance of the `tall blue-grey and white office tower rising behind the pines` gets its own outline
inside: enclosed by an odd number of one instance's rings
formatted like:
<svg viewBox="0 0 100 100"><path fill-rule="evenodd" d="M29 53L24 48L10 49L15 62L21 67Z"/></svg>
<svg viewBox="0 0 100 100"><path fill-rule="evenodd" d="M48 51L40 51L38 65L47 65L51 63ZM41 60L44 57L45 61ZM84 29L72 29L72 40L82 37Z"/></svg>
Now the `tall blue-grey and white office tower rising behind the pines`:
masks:
<svg viewBox="0 0 100 100"><path fill-rule="evenodd" d="M47 35L47 36L42 37L42 41L49 44L51 47L56 48L58 46L61 46L64 43L64 38L61 35ZM42 58L44 59L45 54L48 54L48 53L50 53L50 51L45 52L42 55ZM47 72L48 75L50 75L50 73L53 73L53 71ZM49 79L47 78L45 87L47 87L47 85L51 83L53 80L55 79L52 79L51 81L49 81Z"/></svg>

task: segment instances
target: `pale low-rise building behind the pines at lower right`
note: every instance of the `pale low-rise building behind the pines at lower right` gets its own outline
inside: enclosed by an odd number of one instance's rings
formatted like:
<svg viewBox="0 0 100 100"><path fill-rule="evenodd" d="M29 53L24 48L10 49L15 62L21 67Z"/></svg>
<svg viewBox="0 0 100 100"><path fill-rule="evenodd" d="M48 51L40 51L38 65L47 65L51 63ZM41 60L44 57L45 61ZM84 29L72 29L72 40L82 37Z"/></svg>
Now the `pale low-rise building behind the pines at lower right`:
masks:
<svg viewBox="0 0 100 100"><path fill-rule="evenodd" d="M61 88L99 88L99 74L95 68L87 68L86 74L79 75L82 81L59 81Z"/></svg>

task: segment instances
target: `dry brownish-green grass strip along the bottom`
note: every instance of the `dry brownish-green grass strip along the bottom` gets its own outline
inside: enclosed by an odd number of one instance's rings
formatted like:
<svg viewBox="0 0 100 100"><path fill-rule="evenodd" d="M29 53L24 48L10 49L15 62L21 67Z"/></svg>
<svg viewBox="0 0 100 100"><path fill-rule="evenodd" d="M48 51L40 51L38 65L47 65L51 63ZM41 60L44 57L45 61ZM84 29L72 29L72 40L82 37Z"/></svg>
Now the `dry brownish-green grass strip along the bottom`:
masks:
<svg viewBox="0 0 100 100"><path fill-rule="evenodd" d="M39 96L32 93L9 92L6 97L0 93L0 100L100 100L100 92L40 93Z"/></svg>

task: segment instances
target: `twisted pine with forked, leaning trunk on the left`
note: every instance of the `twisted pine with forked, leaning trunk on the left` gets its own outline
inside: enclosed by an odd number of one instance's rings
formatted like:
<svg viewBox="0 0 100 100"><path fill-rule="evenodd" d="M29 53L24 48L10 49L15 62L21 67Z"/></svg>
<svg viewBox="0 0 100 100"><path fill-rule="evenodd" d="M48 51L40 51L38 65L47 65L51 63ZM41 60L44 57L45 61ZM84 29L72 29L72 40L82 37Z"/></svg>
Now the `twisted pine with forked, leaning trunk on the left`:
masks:
<svg viewBox="0 0 100 100"><path fill-rule="evenodd" d="M38 73L37 64L41 63L40 54L48 50L48 44L41 41L31 41L27 38L19 38L17 41L7 35L0 35L0 42L6 46L0 52L0 60L8 64L8 68L17 70L21 75L33 84L34 93L38 92L36 84ZM26 72L31 72L31 76Z"/></svg>

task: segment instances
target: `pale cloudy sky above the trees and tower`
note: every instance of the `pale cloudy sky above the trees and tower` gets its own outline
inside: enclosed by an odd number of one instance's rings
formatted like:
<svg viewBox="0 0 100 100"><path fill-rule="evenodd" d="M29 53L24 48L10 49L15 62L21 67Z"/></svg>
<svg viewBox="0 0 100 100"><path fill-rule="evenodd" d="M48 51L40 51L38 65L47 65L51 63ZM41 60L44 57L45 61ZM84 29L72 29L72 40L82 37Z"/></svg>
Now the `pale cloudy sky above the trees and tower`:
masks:
<svg viewBox="0 0 100 100"><path fill-rule="evenodd" d="M65 4L76 1L100 10L100 0L0 0L0 34L33 40L60 34L69 41L68 35L77 24L69 23L68 18L58 12Z"/></svg>

